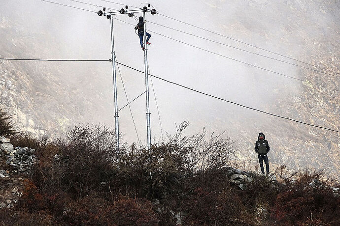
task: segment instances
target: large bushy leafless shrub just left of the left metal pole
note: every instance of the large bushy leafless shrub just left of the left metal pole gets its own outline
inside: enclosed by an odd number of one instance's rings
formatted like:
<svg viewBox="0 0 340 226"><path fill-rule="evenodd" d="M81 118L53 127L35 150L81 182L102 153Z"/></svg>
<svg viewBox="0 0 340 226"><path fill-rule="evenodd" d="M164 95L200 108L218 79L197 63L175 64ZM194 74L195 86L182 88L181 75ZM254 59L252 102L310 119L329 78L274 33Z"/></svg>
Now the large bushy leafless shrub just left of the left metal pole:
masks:
<svg viewBox="0 0 340 226"><path fill-rule="evenodd" d="M109 181L114 169L115 135L101 125L76 126L37 152L34 181L47 194L65 191L82 197Z"/></svg>

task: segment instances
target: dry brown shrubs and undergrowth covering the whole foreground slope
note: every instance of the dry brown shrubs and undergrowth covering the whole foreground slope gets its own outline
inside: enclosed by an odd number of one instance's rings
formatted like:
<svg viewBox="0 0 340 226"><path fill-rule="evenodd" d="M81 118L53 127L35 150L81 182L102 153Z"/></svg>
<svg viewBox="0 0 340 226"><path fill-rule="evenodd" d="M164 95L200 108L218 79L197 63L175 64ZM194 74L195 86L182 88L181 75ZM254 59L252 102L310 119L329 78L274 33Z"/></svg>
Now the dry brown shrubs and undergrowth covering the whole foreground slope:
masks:
<svg viewBox="0 0 340 226"><path fill-rule="evenodd" d="M104 126L77 126L54 141L13 137L15 145L35 148L38 162L17 206L0 209L0 223L176 225L181 212L182 224L195 226L339 224L340 197L322 172L284 176L282 167L281 183L252 173L242 191L226 176L232 141L205 140L204 132L186 137L186 126L150 150L123 147L119 162L114 133Z"/></svg>

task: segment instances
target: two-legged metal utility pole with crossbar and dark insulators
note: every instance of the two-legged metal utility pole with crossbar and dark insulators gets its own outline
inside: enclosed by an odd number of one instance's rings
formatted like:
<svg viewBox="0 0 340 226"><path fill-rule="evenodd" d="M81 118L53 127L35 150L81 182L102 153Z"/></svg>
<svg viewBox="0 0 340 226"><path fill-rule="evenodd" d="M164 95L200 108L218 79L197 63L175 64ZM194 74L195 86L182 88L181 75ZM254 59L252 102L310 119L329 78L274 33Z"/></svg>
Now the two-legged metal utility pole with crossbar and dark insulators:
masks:
<svg viewBox="0 0 340 226"><path fill-rule="evenodd" d="M114 36L113 36L113 15L119 14L128 14L129 17L133 17L134 13L143 13L143 20L145 21L145 13L151 12L152 15L156 14L155 9L150 9L150 4L148 7L144 6L141 9L128 10L128 6L125 6L125 9L121 9L119 11L113 12L105 12L105 8L103 10L98 11L99 16L106 16L107 19L110 19L111 23L111 45L112 45L112 71L113 71L113 93L114 93L114 118L115 118L115 135L116 135L116 149L117 149L117 162L119 159L119 121L118 121L118 99L117 99L117 81L116 81L116 58L114 51ZM151 148L151 127L150 127L150 103L149 103L149 74L148 74L148 61L147 61L147 45L146 45L146 26L144 24L144 66L145 66L145 88L146 88L146 128L147 128L147 146L148 149Z"/></svg>

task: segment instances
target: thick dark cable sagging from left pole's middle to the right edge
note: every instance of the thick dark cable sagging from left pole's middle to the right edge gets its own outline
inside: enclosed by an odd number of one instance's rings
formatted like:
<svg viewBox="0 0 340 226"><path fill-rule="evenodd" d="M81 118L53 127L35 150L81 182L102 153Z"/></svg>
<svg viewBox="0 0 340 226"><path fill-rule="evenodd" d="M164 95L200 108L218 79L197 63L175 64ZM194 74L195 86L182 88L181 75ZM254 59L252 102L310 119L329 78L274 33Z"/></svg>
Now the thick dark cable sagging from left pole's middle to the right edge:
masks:
<svg viewBox="0 0 340 226"><path fill-rule="evenodd" d="M140 70L138 70L138 69L136 69L136 68L130 67L130 66L128 66L128 65L125 65L125 64L123 64L123 63L120 63L120 62L116 62L116 63L117 63L117 64L120 64L120 65L122 65L122 66L128 67L128 68L130 68L130 69L133 69L133 70L135 70L135 71L138 71L138 72L140 72L140 73L144 73L143 71L140 71ZM178 85L178 86L181 86L181 87L183 87L183 88L189 89L189 90L191 90L191 91L194 91L194 92L197 92L197 93L201 93L201 94L203 94L203 95L206 95L206 96L209 96L209 97L218 99L218 100L222 100L222 101L225 101L225 102L228 102L228 103L231 103L231 104L238 105L238 106L240 106L240 107L242 107L242 108L247 108L247 109L250 109L250 110L253 110L253 111L257 111L257 112L269 114L269 115L272 115L272 116L275 116L275 117L279 117L279 118L283 118L283 119L286 119L286 120L298 122L298 123L305 124L305 125L308 125L308 126L313 126L313 127L317 127L317 128L321 128L321 129L330 130L330 131L333 131L333 132L340 133L339 130L329 129L329 128L326 128L326 127L322 127L322 126L317 126L317 125L309 124L309 123L306 123L306 122L302 122L302 121L295 120L295 119L292 119L292 118L280 116L280 115L277 115L277 114L268 113L268 112L265 112L265 111L262 111L262 110L259 110L259 109L255 109L255 108L248 107L248 106L245 106L245 105L242 105L242 104L238 104L238 103L233 102L233 101L229 101L229 100L223 99L223 98L221 98L221 97L217 97L217 96L213 96L213 95L208 94L208 93L201 92L201 91L199 91L199 90L190 88L190 87L188 87L188 86L184 86L184 85L180 85L180 84L178 84L178 83L171 82L171 81L169 81L169 80L166 80L166 79L157 77L157 76L155 76L155 75L151 75L151 74L149 74L149 75L152 76L152 77L155 77L155 78L157 78L157 79L160 79L160 80L162 80L162 81L164 81L164 82L171 83L171 84L173 84L173 85Z"/></svg>

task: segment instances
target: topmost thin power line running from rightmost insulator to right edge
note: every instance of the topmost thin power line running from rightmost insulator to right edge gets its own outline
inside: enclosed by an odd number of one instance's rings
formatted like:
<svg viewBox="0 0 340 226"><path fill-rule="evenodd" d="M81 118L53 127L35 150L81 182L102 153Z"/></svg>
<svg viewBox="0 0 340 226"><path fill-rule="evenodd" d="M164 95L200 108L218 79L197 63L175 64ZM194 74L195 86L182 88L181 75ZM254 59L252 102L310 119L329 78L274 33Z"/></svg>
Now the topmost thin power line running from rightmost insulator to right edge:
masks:
<svg viewBox="0 0 340 226"><path fill-rule="evenodd" d="M334 74L340 74L340 73L336 73L336 72L334 72L334 71L332 71L332 70L329 70L329 69L327 69L327 68L319 67L319 66L316 66L316 65L314 65L314 64L307 63L307 62L305 62L305 61L295 59L295 58L293 58L293 57L288 57L288 56L285 56L285 55L282 55L282 54L279 54L279 53L276 53L276 52L273 52L273 51L270 51L270 50L267 50L267 49L264 49L264 48L261 48L261 47L258 47L258 46L255 46L255 45L253 45L253 44L249 44L249 43L240 41L240 40L238 40L238 39L235 39L235 38L232 38L232 37L223 35L223 34L219 34L219 33L217 33L217 32L214 32L214 31L211 31L211 30L208 30L208 29L205 29L205 28L201 28L201 27L195 26L195 25L193 25L193 24L189 24L189 23L184 22L184 21L177 20L177 19L175 19L175 18L166 16L166 15L161 14L161 13L157 13L157 14L158 14L158 15L161 15L161 16L164 16L164 17L167 17L167 18L169 18L169 19L171 19L171 20L175 20L175 21L178 21L178 22L180 22L180 23L183 23L183 24L192 26L192 27L194 27L194 28L199 28L199 29L205 30L205 31L207 31L207 32L210 32L210 33L219 35L219 36L221 36L221 37L225 37L225 38L231 39L231 40L233 40L233 41L236 41L236 42L239 42L239 43L242 43L242 44L245 44L245 45L248 45L248 46L251 46L251 47L254 47L254 48L257 48L257 49L260 49L260 50L263 50L263 51L266 51L266 52L269 52L269 53L272 53L272 54L275 54L275 55L278 55L278 56L281 56L281 57L286 57L286 58L288 58L288 59L292 59L292 60L298 61L298 62L300 62L300 63L305 63L305 64L308 64L308 65L310 65L310 66L320 68L320 69L322 69L322 70L330 71L330 72L332 72L332 73L334 73Z"/></svg>

